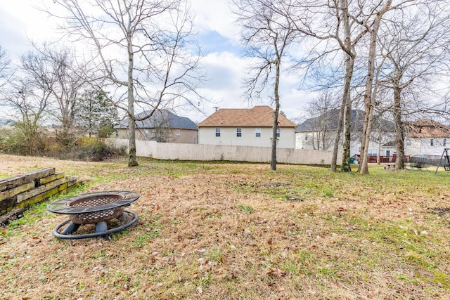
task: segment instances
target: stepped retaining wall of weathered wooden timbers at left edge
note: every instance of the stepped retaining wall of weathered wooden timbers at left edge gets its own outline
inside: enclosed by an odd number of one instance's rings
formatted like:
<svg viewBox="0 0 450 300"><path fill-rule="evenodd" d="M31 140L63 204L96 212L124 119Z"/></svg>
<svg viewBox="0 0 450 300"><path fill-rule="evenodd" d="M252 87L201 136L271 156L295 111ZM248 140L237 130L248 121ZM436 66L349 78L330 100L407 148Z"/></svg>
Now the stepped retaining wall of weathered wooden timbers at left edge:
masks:
<svg viewBox="0 0 450 300"><path fill-rule="evenodd" d="M67 193L82 184L55 168L44 168L0 180L0 226L21 214L30 205L51 196Z"/></svg>

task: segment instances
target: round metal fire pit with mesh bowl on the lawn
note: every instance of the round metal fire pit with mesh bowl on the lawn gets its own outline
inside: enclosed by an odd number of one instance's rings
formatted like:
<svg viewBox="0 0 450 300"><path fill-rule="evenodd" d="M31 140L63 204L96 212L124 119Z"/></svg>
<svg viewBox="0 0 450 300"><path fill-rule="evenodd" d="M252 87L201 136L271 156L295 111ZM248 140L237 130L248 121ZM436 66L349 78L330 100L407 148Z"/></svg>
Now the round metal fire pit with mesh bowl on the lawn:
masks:
<svg viewBox="0 0 450 300"><path fill-rule="evenodd" d="M69 216L68 221L56 226L53 235L60 239L73 240L110 235L127 228L138 221L138 216L124 207L131 205L131 202L139 197L136 192L116 190L87 193L52 202L47 206L49 211ZM117 219L124 225L108 229L107 221L112 219ZM96 232L75 235L79 226L84 224L96 224Z"/></svg>

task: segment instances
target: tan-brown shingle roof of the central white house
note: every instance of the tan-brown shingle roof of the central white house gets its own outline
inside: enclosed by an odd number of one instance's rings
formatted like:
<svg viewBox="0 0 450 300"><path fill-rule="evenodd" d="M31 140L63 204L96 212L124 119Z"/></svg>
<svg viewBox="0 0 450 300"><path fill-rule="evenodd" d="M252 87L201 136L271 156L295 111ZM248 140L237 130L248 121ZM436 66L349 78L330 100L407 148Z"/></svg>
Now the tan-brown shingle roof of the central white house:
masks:
<svg viewBox="0 0 450 300"><path fill-rule="evenodd" d="M255 106L250 109L221 108L198 124L199 127L271 127L274 112L269 106ZM278 115L279 127L295 127L294 122Z"/></svg>

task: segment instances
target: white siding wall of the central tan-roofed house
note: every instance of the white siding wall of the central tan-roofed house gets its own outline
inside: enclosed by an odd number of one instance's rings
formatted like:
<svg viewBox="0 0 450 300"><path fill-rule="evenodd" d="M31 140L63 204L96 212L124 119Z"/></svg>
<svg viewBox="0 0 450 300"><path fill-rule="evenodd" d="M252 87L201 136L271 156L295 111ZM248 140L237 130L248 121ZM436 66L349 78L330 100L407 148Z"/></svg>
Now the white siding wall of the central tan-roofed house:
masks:
<svg viewBox="0 0 450 300"><path fill-rule="evenodd" d="M217 127L219 128L219 127ZM236 129L242 129L242 136L236 136ZM216 136L216 127L200 127L198 129L198 143L202 145L233 145L271 147L272 129L261 128L261 136L256 137L255 127L220 127L220 137ZM295 148L295 129L281 128L278 138L278 148Z"/></svg>

